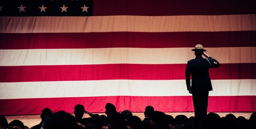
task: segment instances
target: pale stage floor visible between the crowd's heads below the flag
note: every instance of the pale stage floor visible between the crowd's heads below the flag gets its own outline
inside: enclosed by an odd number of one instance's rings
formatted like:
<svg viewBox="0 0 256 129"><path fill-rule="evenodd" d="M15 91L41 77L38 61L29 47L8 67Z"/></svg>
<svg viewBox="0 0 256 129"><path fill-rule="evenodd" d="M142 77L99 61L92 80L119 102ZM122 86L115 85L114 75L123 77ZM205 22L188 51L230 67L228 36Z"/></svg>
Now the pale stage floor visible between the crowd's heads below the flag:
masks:
<svg viewBox="0 0 256 129"><path fill-rule="evenodd" d="M165 112L165 113L168 114L168 115L172 115L174 118L177 115L181 115L181 114L185 115L187 117L194 116L194 112ZM232 113L236 117L243 116L246 119L249 119L250 115L253 112L215 112L215 113L217 113L220 117L225 117L227 114ZM105 115L105 113L97 113L97 114L100 114L100 115L104 114ZM72 114L72 115L74 115L74 114ZM138 116L141 119L144 119L143 112L133 112L133 115L134 116ZM5 117L6 117L7 121L8 121L8 123L10 123L11 121L13 121L15 119L18 119L21 122L23 122L24 125L26 125L29 128L31 128L34 125L37 125L41 121L40 115L21 115L21 116L5 116ZM84 114L83 117L90 117L90 116L88 114Z"/></svg>

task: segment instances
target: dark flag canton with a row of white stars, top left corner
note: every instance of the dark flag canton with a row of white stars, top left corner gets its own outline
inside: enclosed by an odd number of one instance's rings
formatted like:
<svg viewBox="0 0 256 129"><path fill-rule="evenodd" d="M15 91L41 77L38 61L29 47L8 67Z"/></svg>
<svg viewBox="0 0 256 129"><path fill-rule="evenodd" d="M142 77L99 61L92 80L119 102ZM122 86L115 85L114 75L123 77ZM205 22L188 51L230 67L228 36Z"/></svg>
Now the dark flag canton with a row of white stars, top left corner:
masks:
<svg viewBox="0 0 256 129"><path fill-rule="evenodd" d="M93 0L1 0L0 16L92 16Z"/></svg>

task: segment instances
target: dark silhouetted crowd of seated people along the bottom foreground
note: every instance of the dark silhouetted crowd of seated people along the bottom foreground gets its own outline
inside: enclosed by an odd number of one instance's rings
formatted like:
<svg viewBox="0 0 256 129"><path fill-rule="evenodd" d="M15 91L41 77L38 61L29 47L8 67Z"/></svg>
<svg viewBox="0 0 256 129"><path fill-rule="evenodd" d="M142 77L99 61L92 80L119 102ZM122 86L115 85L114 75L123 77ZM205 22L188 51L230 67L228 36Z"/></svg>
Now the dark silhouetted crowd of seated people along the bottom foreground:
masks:
<svg viewBox="0 0 256 129"><path fill-rule="evenodd" d="M76 105L73 116L65 111L52 113L51 109L45 108L40 115L42 121L30 129L195 129L195 117L178 115L174 118L155 111L153 106L146 106L143 120L128 110L117 112L111 103L107 103L105 109L106 115L99 115L85 111L83 105ZM90 117L83 118L84 113ZM0 116L0 129L29 128L19 120L8 123L4 116ZM198 129L256 129L256 112L251 114L250 119L231 113L220 117L210 112Z"/></svg>

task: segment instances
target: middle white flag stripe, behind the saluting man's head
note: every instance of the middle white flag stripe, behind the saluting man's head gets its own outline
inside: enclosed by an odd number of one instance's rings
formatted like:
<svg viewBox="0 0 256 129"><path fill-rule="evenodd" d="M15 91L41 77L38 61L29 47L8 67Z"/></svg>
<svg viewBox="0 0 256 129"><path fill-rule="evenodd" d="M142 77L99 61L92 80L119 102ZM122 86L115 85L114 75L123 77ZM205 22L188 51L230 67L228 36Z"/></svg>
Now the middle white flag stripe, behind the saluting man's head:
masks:
<svg viewBox="0 0 256 129"><path fill-rule="evenodd" d="M186 64L192 48L91 48L0 50L0 66L69 64ZM256 63L256 47L205 48L221 64Z"/></svg>

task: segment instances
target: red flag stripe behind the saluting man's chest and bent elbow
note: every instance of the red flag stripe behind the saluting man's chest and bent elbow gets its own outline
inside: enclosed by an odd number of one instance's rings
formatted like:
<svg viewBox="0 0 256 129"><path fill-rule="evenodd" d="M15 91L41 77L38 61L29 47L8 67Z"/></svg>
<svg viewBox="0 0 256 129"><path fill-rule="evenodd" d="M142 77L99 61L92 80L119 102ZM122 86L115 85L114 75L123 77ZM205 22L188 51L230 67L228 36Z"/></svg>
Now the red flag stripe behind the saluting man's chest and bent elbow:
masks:
<svg viewBox="0 0 256 129"><path fill-rule="evenodd" d="M211 79L256 79L256 64L221 64ZM185 79L186 64L0 66L0 82ZM107 75L107 76L106 76Z"/></svg>

